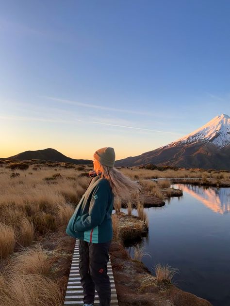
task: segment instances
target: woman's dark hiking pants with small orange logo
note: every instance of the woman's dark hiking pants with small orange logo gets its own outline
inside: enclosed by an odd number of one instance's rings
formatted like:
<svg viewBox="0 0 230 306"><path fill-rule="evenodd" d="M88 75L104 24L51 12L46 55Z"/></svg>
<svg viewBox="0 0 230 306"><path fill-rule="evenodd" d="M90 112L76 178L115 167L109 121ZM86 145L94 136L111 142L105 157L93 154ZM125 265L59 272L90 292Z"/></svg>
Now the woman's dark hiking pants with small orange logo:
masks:
<svg viewBox="0 0 230 306"><path fill-rule="evenodd" d="M99 306L110 306L111 285L107 275L110 245L111 241L93 244L79 239L79 274L84 292L84 304L94 305L96 289Z"/></svg>

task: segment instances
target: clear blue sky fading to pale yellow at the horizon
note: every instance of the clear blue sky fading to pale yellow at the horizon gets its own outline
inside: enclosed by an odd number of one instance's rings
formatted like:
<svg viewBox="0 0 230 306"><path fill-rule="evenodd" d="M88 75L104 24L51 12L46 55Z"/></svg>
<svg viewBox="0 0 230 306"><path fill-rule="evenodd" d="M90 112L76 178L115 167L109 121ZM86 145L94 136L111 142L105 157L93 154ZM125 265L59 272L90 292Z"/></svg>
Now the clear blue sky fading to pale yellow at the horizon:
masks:
<svg viewBox="0 0 230 306"><path fill-rule="evenodd" d="M0 6L0 157L118 160L230 115L229 0Z"/></svg>

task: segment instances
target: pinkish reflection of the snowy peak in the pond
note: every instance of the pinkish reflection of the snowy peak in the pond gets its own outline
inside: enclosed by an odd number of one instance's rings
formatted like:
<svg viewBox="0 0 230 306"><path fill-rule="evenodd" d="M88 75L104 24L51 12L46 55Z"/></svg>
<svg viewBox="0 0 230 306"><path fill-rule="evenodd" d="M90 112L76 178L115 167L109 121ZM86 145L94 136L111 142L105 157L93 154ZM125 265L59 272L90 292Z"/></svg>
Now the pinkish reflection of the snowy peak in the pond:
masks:
<svg viewBox="0 0 230 306"><path fill-rule="evenodd" d="M227 214L230 212L230 188L200 187L190 184L177 184L176 188L189 193L195 199L201 201L205 206L215 213Z"/></svg>

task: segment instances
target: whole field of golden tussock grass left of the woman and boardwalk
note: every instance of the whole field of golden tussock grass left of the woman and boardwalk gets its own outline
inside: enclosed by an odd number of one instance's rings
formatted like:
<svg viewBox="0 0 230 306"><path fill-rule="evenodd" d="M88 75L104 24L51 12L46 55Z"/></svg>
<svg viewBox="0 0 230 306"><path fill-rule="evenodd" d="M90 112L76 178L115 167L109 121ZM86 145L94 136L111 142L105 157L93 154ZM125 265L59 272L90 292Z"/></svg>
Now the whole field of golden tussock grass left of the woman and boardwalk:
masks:
<svg viewBox="0 0 230 306"><path fill-rule="evenodd" d="M13 171L0 168L0 259L4 259L1 270L8 274L0 274L0 306L61 306L64 280L49 279L58 278L52 270L56 255L38 241L49 244L49 232L66 235L90 177L80 176L75 167L59 167L57 172L30 165Z"/></svg>

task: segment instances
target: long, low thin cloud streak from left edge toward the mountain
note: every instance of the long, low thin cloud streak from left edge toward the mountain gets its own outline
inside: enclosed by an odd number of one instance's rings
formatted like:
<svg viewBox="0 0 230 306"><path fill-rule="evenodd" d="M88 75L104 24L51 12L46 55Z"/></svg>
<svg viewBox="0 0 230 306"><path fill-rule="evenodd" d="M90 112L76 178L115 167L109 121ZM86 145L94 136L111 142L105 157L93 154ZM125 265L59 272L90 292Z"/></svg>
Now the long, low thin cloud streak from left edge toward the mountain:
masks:
<svg viewBox="0 0 230 306"><path fill-rule="evenodd" d="M128 128L128 129L136 129L136 130L141 130L141 131L149 131L149 132L154 132L154 133L165 133L165 134L178 135L178 133L169 132L169 131L159 131L159 130L152 130L152 129L141 128L141 127L126 126L126 125L119 125L119 124L110 124L110 123L95 122L95 121L80 120L80 119L75 119L75 120L60 120L60 119L25 117L25 116L14 116L14 115L0 116L0 119L3 119L3 120L20 120L20 121L41 121L41 122L53 122L53 123L87 122L87 123L92 123L92 124L109 125L109 126L122 127L122 128Z"/></svg>

